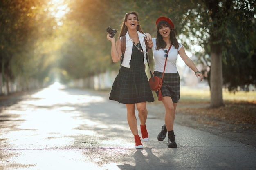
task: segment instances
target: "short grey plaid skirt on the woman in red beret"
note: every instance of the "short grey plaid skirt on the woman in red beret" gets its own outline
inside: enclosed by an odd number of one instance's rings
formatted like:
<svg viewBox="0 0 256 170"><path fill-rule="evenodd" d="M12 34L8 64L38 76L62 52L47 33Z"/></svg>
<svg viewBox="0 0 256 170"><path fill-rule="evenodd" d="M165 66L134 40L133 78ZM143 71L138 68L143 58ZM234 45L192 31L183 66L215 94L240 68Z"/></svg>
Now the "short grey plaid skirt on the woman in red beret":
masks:
<svg viewBox="0 0 256 170"><path fill-rule="evenodd" d="M162 78L163 73L155 71L155 76ZM177 103L180 99L180 75L179 73L164 73L163 85L161 88L163 97L169 96L173 103ZM158 92L157 96L158 96Z"/></svg>

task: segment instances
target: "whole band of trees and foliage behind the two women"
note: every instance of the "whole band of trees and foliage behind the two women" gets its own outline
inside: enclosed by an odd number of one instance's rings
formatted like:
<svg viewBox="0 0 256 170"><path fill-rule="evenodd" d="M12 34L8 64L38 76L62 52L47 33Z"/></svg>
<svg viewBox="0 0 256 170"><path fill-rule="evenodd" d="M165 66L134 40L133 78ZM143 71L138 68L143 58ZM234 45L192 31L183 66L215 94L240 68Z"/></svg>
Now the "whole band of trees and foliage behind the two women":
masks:
<svg viewBox="0 0 256 170"><path fill-rule="evenodd" d="M31 78L44 83L54 71L68 81L117 70L106 28L116 29L117 39L124 14L137 11L143 31L153 37L155 20L171 18L185 49L210 68L206 74L211 106L218 107L223 104L223 85L236 91L256 84L255 4L255 0L2 0L0 73L6 82L22 77L27 83Z"/></svg>

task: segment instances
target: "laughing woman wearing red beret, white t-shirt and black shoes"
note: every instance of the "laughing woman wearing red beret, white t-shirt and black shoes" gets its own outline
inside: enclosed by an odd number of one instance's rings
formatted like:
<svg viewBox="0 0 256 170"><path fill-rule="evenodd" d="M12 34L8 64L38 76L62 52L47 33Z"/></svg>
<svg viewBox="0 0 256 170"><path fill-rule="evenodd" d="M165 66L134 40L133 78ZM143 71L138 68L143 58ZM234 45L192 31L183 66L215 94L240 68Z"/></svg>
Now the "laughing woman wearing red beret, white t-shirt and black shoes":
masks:
<svg viewBox="0 0 256 170"><path fill-rule="evenodd" d="M175 110L178 100L180 99L180 76L177 70L176 61L178 55L182 58L189 68L191 68L196 77L203 79L203 75L198 68L196 68L193 61L186 55L185 49L182 44L178 43L175 37L174 24L167 17L159 17L156 20L157 35L152 38L153 41L153 56L155 60L154 75L162 78L164 71L164 64L167 57L166 68L164 77L162 79L162 102L165 107L165 124L162 126L161 132L158 134L157 139L163 141L168 132L167 146L169 148L176 148L175 135L173 132L173 125L175 119ZM158 92L156 92L159 95ZM160 94L161 95L161 94Z"/></svg>

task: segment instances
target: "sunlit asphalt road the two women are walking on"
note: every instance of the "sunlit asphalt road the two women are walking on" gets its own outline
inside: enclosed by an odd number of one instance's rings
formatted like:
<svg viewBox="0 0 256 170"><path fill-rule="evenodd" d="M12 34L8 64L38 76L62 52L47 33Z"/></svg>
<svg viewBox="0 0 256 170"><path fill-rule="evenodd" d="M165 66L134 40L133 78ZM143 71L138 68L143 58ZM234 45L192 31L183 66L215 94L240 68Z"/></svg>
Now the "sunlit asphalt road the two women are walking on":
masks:
<svg viewBox="0 0 256 170"><path fill-rule="evenodd" d="M179 124L168 148L157 141L158 109L148 104L150 141L135 149L126 107L107 93L55 84L2 100L0 170L256 169L255 147Z"/></svg>

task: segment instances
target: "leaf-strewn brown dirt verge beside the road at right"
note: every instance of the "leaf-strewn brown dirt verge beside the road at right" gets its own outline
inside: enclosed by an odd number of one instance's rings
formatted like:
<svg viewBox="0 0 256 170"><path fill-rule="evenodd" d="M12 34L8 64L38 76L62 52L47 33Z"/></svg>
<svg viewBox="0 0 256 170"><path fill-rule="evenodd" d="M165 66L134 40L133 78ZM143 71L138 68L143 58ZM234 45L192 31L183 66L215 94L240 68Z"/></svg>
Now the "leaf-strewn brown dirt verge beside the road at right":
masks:
<svg viewBox="0 0 256 170"><path fill-rule="evenodd" d="M155 105L153 107L153 105ZM256 104L225 101L225 106L209 108L209 102L187 102L177 105L175 124L210 132L220 137L256 147ZM148 104L150 114L163 119L161 102ZM159 130L162 125L159 125ZM192 141L191 141L192 142Z"/></svg>

